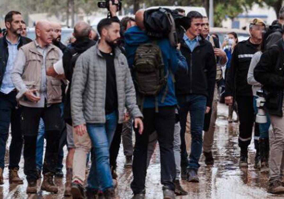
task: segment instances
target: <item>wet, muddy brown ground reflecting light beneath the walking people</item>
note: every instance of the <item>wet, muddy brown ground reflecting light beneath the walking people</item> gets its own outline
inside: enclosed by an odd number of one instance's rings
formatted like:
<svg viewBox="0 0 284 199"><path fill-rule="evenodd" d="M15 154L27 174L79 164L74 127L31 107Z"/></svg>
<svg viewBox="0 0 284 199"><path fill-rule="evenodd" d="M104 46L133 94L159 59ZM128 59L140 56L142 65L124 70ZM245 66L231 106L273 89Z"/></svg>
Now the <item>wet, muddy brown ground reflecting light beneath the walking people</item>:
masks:
<svg viewBox="0 0 284 199"><path fill-rule="evenodd" d="M275 196L266 192L268 182L268 174L261 174L254 169L254 144L249 146L249 168L240 169L237 166L239 157L238 147L238 124L228 124L227 107L224 104L218 105L218 119L215 131L213 156L215 165L213 167L204 164L204 157L201 157L201 167L199 169L200 183L187 183L182 181L183 187L189 192L187 196L177 196L176 198L284 198L284 195ZM10 140L10 139L9 139ZM9 141L8 141L9 142ZM9 143L8 145L9 146ZM7 151L8 151L7 147ZM66 150L65 154L66 155ZM40 190L40 182L38 181L38 194L26 194L26 180L24 185L9 185L8 177L8 153L6 153L6 165L4 170L4 185L0 185L1 198L64 198L65 178L56 179L59 186L58 194L49 194ZM65 161L65 160L64 160ZM129 199L132 197L130 183L132 181L131 169L124 169L125 157L122 147L118 156L118 188L116 193L118 198ZM63 170L65 173L65 168ZM20 164L20 177L24 177L23 158ZM153 154L151 163L147 173L147 189L146 198L159 199L162 198L162 186L160 185L160 157L159 150Z"/></svg>

